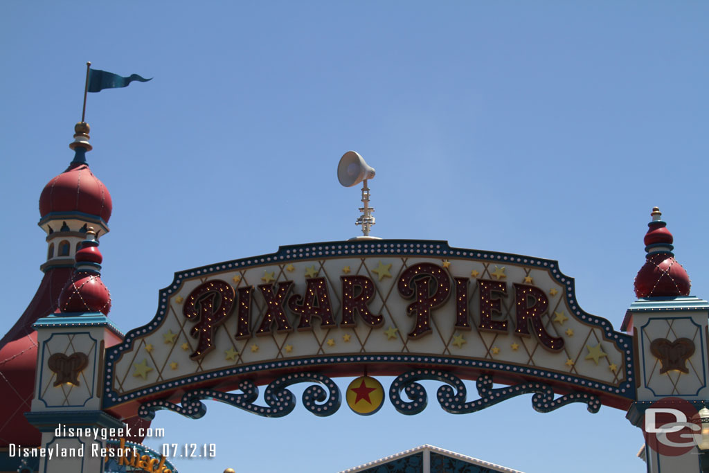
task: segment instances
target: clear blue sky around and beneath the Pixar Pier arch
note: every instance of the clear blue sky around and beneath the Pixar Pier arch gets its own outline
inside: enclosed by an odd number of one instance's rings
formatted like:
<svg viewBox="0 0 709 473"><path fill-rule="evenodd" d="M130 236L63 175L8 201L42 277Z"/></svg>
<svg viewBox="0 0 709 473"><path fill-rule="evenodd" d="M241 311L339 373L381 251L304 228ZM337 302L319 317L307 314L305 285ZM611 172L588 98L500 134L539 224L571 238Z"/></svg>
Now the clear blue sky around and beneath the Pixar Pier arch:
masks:
<svg viewBox="0 0 709 473"><path fill-rule="evenodd" d="M41 279L38 199L72 159L86 60L155 77L91 94L86 114L124 331L180 269L357 235L359 191L335 176L350 149L376 168L381 238L558 260L619 329L657 205L707 298L708 24L703 1L3 1L0 332ZM436 387L412 417L209 402L154 425L216 443L181 472L336 472L423 443L528 473L644 472L622 411L540 414L525 396L453 416Z"/></svg>

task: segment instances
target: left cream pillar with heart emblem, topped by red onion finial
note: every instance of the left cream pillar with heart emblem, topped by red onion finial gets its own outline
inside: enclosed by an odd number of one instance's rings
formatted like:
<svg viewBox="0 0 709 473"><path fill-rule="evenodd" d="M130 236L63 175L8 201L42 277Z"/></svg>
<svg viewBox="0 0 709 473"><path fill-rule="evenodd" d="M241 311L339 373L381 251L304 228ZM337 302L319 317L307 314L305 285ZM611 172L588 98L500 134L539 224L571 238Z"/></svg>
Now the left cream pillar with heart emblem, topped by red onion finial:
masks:
<svg viewBox="0 0 709 473"><path fill-rule="evenodd" d="M51 462L40 460L38 470L100 472L104 459L91 455L106 446L105 438L65 435L60 427L121 429L123 423L101 411L99 380L106 346L123 341L123 333L106 317L111 294L101 281L103 257L96 230L86 229L76 252L74 273L59 296L59 311L40 318L35 396L28 421L42 432L42 447L72 452Z"/></svg>

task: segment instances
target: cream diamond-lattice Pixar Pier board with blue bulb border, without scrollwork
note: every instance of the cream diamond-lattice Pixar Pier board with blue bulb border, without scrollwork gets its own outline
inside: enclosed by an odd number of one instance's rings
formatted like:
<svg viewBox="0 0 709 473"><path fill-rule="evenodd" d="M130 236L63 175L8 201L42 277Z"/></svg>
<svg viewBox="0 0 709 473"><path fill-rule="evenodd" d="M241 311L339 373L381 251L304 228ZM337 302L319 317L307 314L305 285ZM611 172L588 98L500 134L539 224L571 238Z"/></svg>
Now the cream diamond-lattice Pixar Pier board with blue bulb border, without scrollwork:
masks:
<svg viewBox="0 0 709 473"><path fill-rule="evenodd" d="M469 365L630 396L627 335L581 311L572 280L557 268L549 260L402 240L289 247L182 272L162 291L153 321L108 350L109 404L286 366L278 364L284 360L306 366L330 355L476 360ZM353 277L359 279L347 289L345 282ZM208 282L230 289L189 305L191 295ZM287 295L277 301L281 286L289 284ZM365 286L371 296L364 294ZM249 288L250 298L244 296ZM221 316L228 297L233 306ZM213 306L206 309L208 300ZM240 304L249 308L249 316L243 316ZM344 321L352 306L354 326ZM369 322L362 308L369 311ZM278 321L279 313L285 321ZM267 314L270 323L264 323ZM207 323L211 342L206 347L201 337L207 319L213 323ZM484 321L493 328L481 327ZM430 330L424 330L426 325ZM243 336L237 337L238 330Z"/></svg>

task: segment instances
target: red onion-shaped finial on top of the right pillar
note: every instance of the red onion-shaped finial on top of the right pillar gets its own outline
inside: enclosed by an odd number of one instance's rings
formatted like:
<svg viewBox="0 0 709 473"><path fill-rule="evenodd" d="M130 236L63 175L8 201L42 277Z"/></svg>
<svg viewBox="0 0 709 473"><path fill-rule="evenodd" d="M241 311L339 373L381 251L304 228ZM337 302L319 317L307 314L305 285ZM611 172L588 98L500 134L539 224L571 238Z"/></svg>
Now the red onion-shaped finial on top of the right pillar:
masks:
<svg viewBox="0 0 709 473"><path fill-rule="evenodd" d="M645 264L635 277L635 295L647 297L688 296L691 288L689 275L674 259L674 238L667 224L661 221L662 213L657 207L652 208L652 221L647 224L644 243Z"/></svg>

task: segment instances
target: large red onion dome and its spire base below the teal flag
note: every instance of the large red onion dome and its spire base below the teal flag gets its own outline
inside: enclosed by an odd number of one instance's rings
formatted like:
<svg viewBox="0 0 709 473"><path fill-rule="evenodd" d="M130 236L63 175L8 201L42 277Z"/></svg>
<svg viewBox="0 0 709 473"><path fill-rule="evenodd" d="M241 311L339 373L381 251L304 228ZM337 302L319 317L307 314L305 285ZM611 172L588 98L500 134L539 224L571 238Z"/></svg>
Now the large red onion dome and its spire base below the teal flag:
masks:
<svg viewBox="0 0 709 473"><path fill-rule="evenodd" d="M107 223L113 210L111 194L86 164L86 151L91 146L87 141L89 126L77 123L74 129L77 131L74 137L80 137L72 143L74 160L65 172L48 182L43 189L40 215L44 218L52 212L82 212L101 217ZM82 141L84 137L85 143Z"/></svg>

